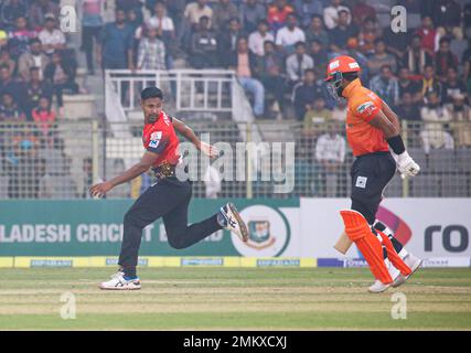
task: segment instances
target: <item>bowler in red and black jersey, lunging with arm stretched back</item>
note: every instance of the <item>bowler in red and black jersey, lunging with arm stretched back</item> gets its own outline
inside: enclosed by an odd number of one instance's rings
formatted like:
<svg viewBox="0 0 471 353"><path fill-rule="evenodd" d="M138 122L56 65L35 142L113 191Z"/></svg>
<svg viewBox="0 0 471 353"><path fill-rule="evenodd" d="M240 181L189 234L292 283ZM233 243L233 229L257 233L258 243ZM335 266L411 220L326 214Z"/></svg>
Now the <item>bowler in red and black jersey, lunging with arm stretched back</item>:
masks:
<svg viewBox="0 0 471 353"><path fill-rule="evenodd" d="M142 229L158 218L163 218L170 246L183 249L196 244L218 229L229 229L247 242L247 226L236 207L228 203L212 217L188 225L188 207L192 195L190 181L181 181L176 168L181 161L179 138L175 131L189 139L211 158L218 154L216 148L200 141L193 130L173 118L162 108L162 90L148 87L141 92L141 108L144 117L142 143L146 149L141 160L109 181L90 188L93 196L103 196L116 185L131 181L150 168L158 182L142 193L125 215L120 268L110 280L99 285L100 289L135 290L141 284L136 274Z"/></svg>

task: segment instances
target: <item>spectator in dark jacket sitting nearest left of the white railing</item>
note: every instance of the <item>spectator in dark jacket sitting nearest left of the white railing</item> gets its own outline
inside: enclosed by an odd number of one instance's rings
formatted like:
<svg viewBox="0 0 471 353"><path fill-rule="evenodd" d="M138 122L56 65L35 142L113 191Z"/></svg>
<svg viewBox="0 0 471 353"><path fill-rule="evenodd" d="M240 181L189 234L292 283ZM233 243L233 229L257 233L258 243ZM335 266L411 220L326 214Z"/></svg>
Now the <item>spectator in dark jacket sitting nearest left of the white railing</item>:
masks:
<svg viewBox="0 0 471 353"><path fill-rule="evenodd" d="M63 116L63 92L69 94L78 93L78 85L75 83L75 72L68 62L64 62L61 52L55 52L52 55L51 63L47 64L44 71L44 77L52 83L55 95L57 97L57 107L60 115Z"/></svg>

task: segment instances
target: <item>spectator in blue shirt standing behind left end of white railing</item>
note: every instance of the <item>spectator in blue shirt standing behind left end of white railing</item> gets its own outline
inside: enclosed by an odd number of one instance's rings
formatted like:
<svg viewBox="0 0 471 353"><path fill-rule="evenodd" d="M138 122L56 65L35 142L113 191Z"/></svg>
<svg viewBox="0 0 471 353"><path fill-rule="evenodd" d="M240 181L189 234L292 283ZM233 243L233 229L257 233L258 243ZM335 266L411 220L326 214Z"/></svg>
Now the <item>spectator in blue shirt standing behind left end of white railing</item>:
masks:
<svg viewBox="0 0 471 353"><path fill-rule="evenodd" d="M100 33L98 60L103 69L133 69L132 29L125 22L124 10L117 9L115 14L116 22L106 23Z"/></svg>

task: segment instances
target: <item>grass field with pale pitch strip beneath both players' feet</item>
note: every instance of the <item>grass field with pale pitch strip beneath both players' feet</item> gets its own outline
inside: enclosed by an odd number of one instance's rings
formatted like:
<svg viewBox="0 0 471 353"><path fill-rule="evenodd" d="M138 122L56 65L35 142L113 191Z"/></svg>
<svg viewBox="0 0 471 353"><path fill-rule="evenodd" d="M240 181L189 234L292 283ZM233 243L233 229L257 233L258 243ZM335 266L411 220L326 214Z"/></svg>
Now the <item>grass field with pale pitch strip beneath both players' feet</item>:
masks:
<svg viewBox="0 0 471 353"><path fill-rule="evenodd" d="M471 269L420 269L366 291L366 269L142 268L140 291L100 291L110 268L0 269L0 330L471 330ZM407 319L394 320L395 292ZM76 319L60 315L61 295Z"/></svg>

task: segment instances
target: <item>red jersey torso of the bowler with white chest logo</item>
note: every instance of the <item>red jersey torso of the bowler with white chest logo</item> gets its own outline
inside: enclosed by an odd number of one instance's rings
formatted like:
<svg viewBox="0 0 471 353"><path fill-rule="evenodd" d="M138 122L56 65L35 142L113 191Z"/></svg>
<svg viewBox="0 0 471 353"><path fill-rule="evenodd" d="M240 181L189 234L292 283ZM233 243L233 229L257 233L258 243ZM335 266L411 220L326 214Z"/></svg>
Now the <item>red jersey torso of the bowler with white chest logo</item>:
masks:
<svg viewBox="0 0 471 353"><path fill-rule="evenodd" d="M146 124L142 131L142 143L146 150L159 154L153 168L169 163L176 165L180 160L179 143L172 117L162 110L153 124Z"/></svg>

